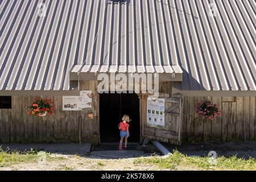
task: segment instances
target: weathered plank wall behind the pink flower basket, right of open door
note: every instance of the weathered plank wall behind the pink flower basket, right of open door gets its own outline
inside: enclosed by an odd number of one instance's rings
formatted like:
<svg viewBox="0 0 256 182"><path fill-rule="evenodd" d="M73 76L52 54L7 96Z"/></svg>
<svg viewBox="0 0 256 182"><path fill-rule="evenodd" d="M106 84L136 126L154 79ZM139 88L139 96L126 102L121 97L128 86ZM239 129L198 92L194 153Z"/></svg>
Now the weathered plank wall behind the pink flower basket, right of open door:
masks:
<svg viewBox="0 0 256 182"><path fill-rule="evenodd" d="M183 140L245 141L256 140L255 97L210 97L218 104L222 114L217 119L201 119L195 105L207 97L184 97Z"/></svg>

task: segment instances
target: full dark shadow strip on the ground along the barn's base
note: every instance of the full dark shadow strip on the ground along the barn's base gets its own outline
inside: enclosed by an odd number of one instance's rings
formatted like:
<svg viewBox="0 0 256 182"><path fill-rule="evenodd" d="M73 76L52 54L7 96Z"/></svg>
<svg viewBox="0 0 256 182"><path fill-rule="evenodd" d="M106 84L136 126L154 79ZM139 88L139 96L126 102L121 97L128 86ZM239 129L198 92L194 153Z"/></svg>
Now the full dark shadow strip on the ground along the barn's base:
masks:
<svg viewBox="0 0 256 182"><path fill-rule="evenodd" d="M237 158L254 158L256 159L256 142L203 142L203 143L188 143L183 142L182 146L174 146L171 144L162 143L169 151L177 150L188 156L208 156L210 151L216 151L217 156L232 156ZM141 146L135 143L130 143L127 150L119 151L118 143L101 144L100 146L92 147L89 143L76 144L0 144L3 150L30 151L47 151L55 154L79 155L93 159L124 159L138 158L141 156L160 155L160 152L147 144Z"/></svg>

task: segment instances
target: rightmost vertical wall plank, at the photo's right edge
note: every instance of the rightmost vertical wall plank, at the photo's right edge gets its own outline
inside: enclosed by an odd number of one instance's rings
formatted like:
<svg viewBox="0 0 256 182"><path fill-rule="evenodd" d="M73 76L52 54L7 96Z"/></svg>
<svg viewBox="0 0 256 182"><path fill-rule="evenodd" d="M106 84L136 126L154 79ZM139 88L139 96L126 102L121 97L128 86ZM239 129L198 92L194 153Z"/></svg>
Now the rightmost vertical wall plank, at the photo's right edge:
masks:
<svg viewBox="0 0 256 182"><path fill-rule="evenodd" d="M255 97L250 97L250 140L254 140L255 138L255 105Z"/></svg>

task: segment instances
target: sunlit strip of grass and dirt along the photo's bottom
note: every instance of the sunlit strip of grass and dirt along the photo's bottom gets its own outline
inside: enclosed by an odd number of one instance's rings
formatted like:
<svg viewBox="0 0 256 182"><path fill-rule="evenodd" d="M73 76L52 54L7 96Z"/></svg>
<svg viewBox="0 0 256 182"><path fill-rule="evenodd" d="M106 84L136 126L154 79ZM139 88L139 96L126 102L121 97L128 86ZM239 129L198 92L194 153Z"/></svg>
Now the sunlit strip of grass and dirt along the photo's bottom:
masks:
<svg viewBox="0 0 256 182"><path fill-rule="evenodd" d="M46 163L39 163L38 152L1 151L0 170L255 170L256 160L236 156L217 158L210 164L208 157L185 156L174 151L173 155L148 156L129 159L99 159L87 155L46 153Z"/></svg>

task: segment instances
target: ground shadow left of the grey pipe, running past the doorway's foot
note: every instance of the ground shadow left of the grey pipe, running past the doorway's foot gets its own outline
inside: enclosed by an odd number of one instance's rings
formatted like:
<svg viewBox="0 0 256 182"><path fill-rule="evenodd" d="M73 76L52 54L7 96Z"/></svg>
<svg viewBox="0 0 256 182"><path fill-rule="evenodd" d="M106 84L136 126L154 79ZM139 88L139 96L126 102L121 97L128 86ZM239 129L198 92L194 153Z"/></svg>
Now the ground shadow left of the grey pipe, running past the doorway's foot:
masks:
<svg viewBox="0 0 256 182"><path fill-rule="evenodd" d="M93 147L89 143L61 143L61 144L22 144L22 143L6 143L0 144L4 151L46 151L53 154L61 155L78 155L85 158L93 159L126 159L138 158L141 156L150 156L152 154L159 154L158 150L148 144L147 146L140 146L138 143L130 143L127 150L119 151L118 143L101 144ZM160 155L160 154L159 154Z"/></svg>

